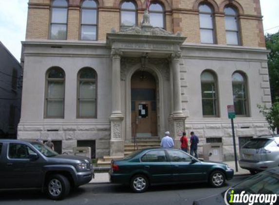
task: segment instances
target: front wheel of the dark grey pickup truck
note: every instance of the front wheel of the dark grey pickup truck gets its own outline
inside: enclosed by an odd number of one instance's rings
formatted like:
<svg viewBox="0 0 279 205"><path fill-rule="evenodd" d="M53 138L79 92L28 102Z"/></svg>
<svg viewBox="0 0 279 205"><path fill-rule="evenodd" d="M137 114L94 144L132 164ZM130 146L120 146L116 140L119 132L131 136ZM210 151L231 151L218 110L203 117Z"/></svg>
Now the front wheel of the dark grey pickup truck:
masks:
<svg viewBox="0 0 279 205"><path fill-rule="evenodd" d="M70 192L69 180L60 174L52 175L47 183L46 192L50 199L61 200Z"/></svg>

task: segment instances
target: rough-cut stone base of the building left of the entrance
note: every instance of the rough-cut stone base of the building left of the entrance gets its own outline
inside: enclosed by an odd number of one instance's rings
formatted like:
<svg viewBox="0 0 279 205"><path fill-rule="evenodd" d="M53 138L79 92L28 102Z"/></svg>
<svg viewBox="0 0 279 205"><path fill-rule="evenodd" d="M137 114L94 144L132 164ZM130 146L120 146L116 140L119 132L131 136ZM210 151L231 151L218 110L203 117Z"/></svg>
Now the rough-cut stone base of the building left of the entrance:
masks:
<svg viewBox="0 0 279 205"><path fill-rule="evenodd" d="M104 125L19 125L18 138L36 140L40 137L47 140L62 141L62 153L73 154L73 148L77 145L77 140L95 140L96 158L110 153L111 127ZM93 152L93 151L92 151Z"/></svg>

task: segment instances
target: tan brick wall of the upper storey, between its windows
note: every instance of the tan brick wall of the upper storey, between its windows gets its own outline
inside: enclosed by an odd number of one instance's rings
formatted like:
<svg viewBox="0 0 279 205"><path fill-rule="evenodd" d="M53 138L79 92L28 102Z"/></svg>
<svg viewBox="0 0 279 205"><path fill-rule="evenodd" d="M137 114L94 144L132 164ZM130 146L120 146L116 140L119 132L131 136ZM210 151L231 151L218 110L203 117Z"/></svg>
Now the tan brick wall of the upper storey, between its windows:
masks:
<svg viewBox="0 0 279 205"><path fill-rule="evenodd" d="M80 39L80 1L70 0L68 10L68 40ZM136 0L137 23L140 24L145 0ZM200 43L199 12L197 6L202 0L161 0L165 7L165 25L169 32L181 32L186 43ZM234 5L239 10L239 25L242 46L265 47L259 0L208 0L212 3L215 22L216 44L225 45L223 7ZM105 40L106 34L120 29L121 0L99 2L97 40ZM51 0L29 0L26 39L48 39Z"/></svg>

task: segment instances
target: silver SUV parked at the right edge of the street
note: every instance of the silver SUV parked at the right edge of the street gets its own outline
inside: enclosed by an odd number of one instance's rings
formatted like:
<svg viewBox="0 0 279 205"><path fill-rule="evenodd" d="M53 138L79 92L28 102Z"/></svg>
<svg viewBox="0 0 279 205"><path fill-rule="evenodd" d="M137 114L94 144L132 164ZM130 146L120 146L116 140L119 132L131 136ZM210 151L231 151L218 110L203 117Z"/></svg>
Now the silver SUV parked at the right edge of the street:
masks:
<svg viewBox="0 0 279 205"><path fill-rule="evenodd" d="M279 166L279 135L250 139L242 146L239 164L252 174Z"/></svg>

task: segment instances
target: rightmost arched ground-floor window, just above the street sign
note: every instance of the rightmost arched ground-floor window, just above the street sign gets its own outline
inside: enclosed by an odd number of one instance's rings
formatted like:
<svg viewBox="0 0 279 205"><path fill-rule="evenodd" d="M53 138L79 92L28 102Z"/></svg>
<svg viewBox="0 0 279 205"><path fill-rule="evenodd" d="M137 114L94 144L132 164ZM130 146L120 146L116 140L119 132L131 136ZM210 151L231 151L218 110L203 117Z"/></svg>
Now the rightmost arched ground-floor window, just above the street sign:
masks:
<svg viewBox="0 0 279 205"><path fill-rule="evenodd" d="M240 116L248 115L246 78L240 72L232 75L233 101L235 114Z"/></svg>

